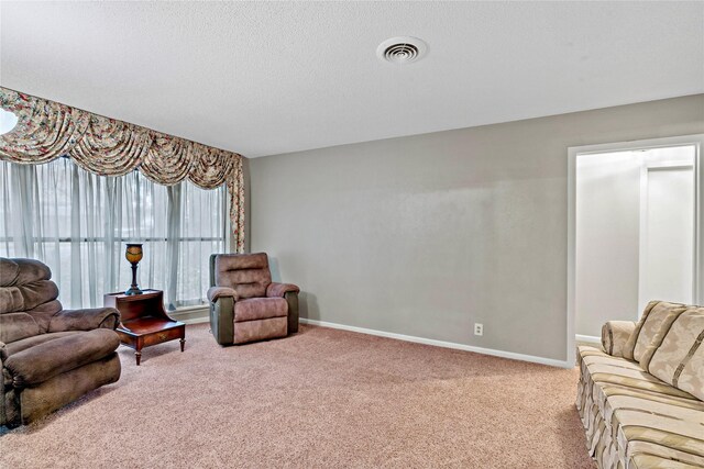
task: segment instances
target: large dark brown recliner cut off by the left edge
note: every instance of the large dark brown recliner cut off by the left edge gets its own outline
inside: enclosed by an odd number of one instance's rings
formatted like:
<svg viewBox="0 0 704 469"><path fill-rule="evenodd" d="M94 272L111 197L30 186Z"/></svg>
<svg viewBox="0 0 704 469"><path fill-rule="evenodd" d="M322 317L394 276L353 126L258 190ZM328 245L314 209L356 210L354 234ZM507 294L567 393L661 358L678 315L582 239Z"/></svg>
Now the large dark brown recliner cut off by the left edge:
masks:
<svg viewBox="0 0 704 469"><path fill-rule="evenodd" d="M68 311L47 266L0 257L0 424L40 418L120 378L113 308Z"/></svg>

